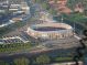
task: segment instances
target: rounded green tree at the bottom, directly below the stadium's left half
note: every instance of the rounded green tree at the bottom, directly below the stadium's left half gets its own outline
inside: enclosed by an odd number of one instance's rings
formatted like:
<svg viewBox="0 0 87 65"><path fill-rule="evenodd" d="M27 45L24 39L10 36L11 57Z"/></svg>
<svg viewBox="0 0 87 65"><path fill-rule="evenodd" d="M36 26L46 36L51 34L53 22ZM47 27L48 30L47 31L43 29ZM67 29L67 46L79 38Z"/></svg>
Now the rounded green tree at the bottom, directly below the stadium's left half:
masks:
<svg viewBox="0 0 87 65"><path fill-rule="evenodd" d="M36 64L37 65L44 65L50 63L50 57L47 55L40 55L39 57L36 57Z"/></svg>

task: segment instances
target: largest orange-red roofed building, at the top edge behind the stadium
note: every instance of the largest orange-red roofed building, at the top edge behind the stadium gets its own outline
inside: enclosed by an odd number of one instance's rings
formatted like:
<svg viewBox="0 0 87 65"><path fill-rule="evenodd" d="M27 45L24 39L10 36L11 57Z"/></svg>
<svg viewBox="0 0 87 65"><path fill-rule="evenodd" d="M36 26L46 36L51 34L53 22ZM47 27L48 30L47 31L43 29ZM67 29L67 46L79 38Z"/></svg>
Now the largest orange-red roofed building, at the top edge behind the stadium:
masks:
<svg viewBox="0 0 87 65"><path fill-rule="evenodd" d="M70 13L73 12L69 8L66 7L67 0L48 0L48 3L59 13ZM57 14L58 14L57 12Z"/></svg>

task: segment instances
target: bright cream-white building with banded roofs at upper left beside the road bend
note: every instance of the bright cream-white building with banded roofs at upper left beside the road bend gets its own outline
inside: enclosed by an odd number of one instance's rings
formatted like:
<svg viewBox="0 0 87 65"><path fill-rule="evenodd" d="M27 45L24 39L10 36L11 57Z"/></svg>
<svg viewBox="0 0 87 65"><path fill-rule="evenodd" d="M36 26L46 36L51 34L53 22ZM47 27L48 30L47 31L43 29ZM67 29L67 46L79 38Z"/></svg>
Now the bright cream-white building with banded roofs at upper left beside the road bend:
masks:
<svg viewBox="0 0 87 65"><path fill-rule="evenodd" d="M30 7L28 6L26 2L23 2L21 4L11 4L9 11L13 12L13 13L20 13L20 12L24 12L25 14L30 14Z"/></svg>

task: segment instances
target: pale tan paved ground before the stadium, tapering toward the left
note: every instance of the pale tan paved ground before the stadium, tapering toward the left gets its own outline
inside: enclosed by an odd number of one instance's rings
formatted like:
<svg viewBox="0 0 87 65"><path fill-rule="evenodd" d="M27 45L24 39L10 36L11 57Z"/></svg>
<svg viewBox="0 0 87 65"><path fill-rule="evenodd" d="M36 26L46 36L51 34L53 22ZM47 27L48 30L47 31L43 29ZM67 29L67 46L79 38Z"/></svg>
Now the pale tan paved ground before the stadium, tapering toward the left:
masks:
<svg viewBox="0 0 87 65"><path fill-rule="evenodd" d="M19 53L13 53L11 55L18 55L18 54L23 54L23 53L30 53L30 54L39 54L39 53L44 53L46 51L54 51L54 50L68 50L68 48L73 48L79 45L78 40L76 40L75 37L68 37L65 40L54 40L54 41L46 41L46 42L40 42L40 44L37 46L34 46L30 50L25 50L24 51L20 51ZM0 54L0 56L6 56L9 55L8 53L6 54Z"/></svg>

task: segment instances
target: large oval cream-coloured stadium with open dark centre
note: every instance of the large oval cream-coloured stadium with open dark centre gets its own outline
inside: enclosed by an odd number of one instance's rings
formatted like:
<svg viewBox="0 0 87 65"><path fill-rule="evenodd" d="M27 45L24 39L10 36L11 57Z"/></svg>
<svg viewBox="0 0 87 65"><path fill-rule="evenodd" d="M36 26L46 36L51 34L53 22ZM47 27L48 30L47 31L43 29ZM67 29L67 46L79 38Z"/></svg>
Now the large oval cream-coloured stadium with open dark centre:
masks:
<svg viewBox="0 0 87 65"><path fill-rule="evenodd" d="M73 28L66 23L42 23L28 28L26 33L35 39L65 39L73 35Z"/></svg>

